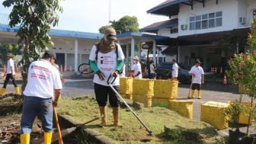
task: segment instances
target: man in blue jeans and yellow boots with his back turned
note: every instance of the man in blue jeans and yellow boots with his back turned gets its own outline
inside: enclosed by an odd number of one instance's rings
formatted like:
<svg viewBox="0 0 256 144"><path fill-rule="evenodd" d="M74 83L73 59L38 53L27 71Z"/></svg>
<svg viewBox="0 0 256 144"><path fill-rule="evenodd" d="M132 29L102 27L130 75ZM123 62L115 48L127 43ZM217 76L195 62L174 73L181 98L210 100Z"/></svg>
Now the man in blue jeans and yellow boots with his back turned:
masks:
<svg viewBox="0 0 256 144"><path fill-rule="evenodd" d="M53 135L53 107L57 107L62 83L58 70L50 63L55 53L46 51L43 58L32 62L28 69L27 85L23 92L21 116L21 144L30 143L35 117L43 125L44 144L50 144ZM53 97L55 99L53 100Z"/></svg>

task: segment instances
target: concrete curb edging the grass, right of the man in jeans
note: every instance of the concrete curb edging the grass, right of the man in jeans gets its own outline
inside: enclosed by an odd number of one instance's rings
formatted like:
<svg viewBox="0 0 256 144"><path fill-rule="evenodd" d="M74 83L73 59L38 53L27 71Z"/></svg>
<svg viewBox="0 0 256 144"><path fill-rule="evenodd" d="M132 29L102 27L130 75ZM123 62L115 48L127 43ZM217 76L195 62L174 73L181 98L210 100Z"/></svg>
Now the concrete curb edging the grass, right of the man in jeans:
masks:
<svg viewBox="0 0 256 144"><path fill-rule="evenodd" d="M79 123L71 120L69 116L66 115L59 115L59 123L62 126L62 128L66 129L69 127L73 127L78 125ZM79 140L83 140L88 143L94 143L94 144L117 144L114 140L110 139L107 136L104 136L101 133L98 133L95 130L92 129L86 129L85 126L82 126L81 128L78 128L79 130L75 130L75 135L80 136Z"/></svg>

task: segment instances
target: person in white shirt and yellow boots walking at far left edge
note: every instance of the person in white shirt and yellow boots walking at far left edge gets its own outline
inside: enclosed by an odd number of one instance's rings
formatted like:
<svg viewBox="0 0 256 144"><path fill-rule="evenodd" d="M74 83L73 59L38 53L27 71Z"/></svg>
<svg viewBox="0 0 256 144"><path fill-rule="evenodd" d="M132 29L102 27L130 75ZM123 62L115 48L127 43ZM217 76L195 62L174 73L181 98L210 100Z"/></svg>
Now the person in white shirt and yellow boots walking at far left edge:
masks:
<svg viewBox="0 0 256 144"><path fill-rule="evenodd" d="M6 57L8 59L7 69L6 69L6 73L5 73L6 77L5 77L4 85L3 85L2 89L0 90L0 96L2 96L2 94L5 93L6 86L10 79L11 79L12 84L14 85L16 94L20 94L20 88L18 87L18 85L15 82L15 69L14 69L14 61L12 59L12 54L7 53Z"/></svg>

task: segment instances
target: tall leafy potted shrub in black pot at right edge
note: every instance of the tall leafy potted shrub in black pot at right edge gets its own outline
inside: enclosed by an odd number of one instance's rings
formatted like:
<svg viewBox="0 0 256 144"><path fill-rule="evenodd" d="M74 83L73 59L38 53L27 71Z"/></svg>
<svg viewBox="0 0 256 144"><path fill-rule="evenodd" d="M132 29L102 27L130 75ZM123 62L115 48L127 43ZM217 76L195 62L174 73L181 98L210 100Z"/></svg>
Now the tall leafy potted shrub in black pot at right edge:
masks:
<svg viewBox="0 0 256 144"><path fill-rule="evenodd" d="M229 81L242 86L242 88L246 90L247 96L251 98L250 107L248 108L248 123L250 123L252 118L255 117L253 101L256 98L256 19L253 21L251 34L248 36L248 45L250 46L248 53L235 54L235 56L229 60L229 70L226 73ZM229 115L230 118L229 122L238 123L237 114L238 112L241 113L245 108L242 108L241 101L242 96L240 97L240 101L233 101L226 110L226 114ZM236 139L236 142L229 142L252 143L253 138L248 135L248 129L249 125L246 133L240 133L238 128L235 131L230 131L229 138L232 138L232 136L230 136L232 134L235 134L235 136L239 138ZM249 142L250 140L251 142Z"/></svg>

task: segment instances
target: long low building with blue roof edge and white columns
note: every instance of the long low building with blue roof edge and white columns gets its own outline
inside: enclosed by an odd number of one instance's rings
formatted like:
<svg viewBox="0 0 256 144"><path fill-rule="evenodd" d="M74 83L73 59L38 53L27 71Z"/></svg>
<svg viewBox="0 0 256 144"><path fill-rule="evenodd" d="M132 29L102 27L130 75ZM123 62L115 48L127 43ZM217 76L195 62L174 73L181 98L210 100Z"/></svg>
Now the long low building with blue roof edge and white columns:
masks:
<svg viewBox="0 0 256 144"><path fill-rule="evenodd" d="M19 27L8 26L8 14L0 14L0 43L17 43L16 33ZM72 30L50 30L50 37L53 40L54 47L50 49L56 53L56 61L59 67L72 69L78 73L78 66L81 63L88 62L91 47L103 37L103 34L79 32ZM166 39L152 34L123 33L117 35L118 43L123 48L126 57L126 69L129 69L133 62L133 56L141 56L142 43L152 43L154 56L156 56L155 40ZM155 57L153 57L156 62Z"/></svg>

